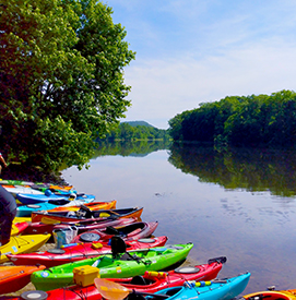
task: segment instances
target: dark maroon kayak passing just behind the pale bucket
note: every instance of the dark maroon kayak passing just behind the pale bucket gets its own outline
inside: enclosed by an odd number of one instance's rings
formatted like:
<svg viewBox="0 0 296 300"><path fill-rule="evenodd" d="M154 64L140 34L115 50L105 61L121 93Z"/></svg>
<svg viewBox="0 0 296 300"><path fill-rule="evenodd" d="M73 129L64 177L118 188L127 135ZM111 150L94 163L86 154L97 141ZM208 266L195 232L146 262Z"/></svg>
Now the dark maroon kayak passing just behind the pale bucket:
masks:
<svg viewBox="0 0 296 300"><path fill-rule="evenodd" d="M29 223L25 229L26 235L42 235L52 233L54 230L69 228L69 226L75 226L78 228L78 235L87 230L105 229L107 226L125 226L137 221L137 218L97 218L97 219L81 219L71 221L52 221L51 219L43 219L37 223Z"/></svg>

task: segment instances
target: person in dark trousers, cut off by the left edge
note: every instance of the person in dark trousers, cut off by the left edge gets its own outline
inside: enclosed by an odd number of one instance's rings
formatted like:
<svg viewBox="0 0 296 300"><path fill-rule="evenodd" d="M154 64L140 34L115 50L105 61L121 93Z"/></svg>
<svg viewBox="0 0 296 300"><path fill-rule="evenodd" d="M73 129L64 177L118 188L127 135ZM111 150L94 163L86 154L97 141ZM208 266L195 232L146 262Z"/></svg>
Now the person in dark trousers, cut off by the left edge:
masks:
<svg viewBox="0 0 296 300"><path fill-rule="evenodd" d="M0 153L0 173L2 167L7 168L7 161ZM11 193L9 193L0 184L0 243L7 244L10 241L11 228L13 219L16 215L16 201Z"/></svg>

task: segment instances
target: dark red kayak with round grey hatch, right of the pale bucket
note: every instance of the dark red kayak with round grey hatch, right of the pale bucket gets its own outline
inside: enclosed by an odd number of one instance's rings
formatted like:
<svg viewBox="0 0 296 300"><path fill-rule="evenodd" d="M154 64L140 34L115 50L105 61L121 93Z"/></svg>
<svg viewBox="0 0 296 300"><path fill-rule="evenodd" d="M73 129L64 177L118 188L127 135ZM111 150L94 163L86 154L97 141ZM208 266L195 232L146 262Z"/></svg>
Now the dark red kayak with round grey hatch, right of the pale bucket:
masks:
<svg viewBox="0 0 296 300"><path fill-rule="evenodd" d="M71 242L108 241L111 237L121 237L125 241L150 237L157 228L158 221L135 221L126 226L108 226L100 230L88 230L78 235Z"/></svg>

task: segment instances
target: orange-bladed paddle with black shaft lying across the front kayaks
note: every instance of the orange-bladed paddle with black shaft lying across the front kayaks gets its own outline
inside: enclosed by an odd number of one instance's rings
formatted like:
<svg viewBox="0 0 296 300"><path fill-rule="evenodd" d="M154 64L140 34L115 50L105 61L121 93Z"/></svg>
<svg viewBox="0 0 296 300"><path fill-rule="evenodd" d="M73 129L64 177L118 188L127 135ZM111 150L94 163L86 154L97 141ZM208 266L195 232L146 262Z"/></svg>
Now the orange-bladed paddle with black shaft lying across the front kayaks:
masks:
<svg viewBox="0 0 296 300"><path fill-rule="evenodd" d="M135 293L139 296L152 296L152 297L157 297L161 299L166 299L171 296L168 295L161 295L161 293L152 293L152 292L144 292L144 291L134 291L132 289L128 289L117 283L109 281L107 279L102 279L102 278L95 278L95 286L99 293L110 300L122 300L130 293Z"/></svg>

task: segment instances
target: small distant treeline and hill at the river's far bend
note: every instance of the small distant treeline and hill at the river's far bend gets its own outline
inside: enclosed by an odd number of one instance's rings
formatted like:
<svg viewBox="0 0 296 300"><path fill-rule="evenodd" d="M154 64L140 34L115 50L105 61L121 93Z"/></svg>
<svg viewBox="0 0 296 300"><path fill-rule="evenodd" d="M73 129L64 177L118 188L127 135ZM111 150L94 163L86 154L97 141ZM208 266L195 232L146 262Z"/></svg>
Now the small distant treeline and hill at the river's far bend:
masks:
<svg viewBox="0 0 296 300"><path fill-rule="evenodd" d="M106 134L108 141L138 141L138 140L169 140L167 130L157 129L152 125L131 125L128 122L120 123L117 128Z"/></svg>

